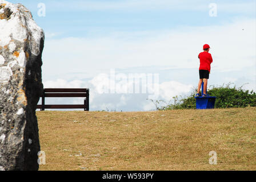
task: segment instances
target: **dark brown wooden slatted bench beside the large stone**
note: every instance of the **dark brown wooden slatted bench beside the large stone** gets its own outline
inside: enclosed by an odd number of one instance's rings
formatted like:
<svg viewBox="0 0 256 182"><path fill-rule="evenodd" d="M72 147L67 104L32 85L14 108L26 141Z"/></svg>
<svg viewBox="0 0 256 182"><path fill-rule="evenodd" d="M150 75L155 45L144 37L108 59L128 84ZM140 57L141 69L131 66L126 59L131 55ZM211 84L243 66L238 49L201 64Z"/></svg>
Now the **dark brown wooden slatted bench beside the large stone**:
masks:
<svg viewBox="0 0 256 182"><path fill-rule="evenodd" d="M42 105L37 105L37 109L84 109L89 111L89 89L43 89ZM84 97L83 105L45 105L46 97Z"/></svg>

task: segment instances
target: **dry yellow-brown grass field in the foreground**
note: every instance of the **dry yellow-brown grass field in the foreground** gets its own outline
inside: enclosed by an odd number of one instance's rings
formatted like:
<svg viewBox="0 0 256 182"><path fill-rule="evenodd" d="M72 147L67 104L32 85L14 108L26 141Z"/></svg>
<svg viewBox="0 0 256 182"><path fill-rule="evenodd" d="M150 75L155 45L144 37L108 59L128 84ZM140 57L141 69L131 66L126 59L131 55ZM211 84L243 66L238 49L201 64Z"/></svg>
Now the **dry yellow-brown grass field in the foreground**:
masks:
<svg viewBox="0 0 256 182"><path fill-rule="evenodd" d="M40 170L256 170L256 108L38 111ZM217 164L209 164L209 152Z"/></svg>

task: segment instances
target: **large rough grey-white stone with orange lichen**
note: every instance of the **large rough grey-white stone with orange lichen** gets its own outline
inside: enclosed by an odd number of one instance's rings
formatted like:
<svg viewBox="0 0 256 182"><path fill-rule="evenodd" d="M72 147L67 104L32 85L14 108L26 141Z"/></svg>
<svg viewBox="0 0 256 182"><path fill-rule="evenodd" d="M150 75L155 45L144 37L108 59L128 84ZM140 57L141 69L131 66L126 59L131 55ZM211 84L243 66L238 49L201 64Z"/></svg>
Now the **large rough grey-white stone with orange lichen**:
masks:
<svg viewBox="0 0 256 182"><path fill-rule="evenodd" d="M44 39L25 6L0 0L0 170L38 170Z"/></svg>

